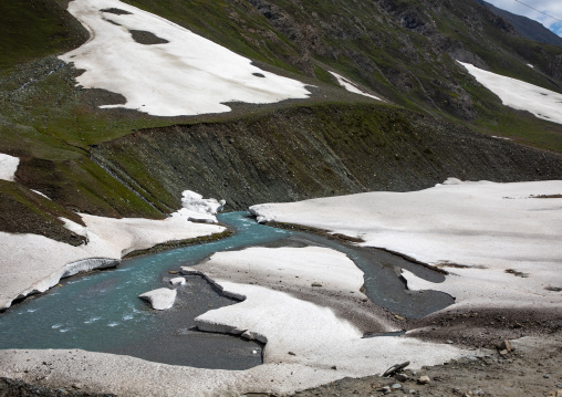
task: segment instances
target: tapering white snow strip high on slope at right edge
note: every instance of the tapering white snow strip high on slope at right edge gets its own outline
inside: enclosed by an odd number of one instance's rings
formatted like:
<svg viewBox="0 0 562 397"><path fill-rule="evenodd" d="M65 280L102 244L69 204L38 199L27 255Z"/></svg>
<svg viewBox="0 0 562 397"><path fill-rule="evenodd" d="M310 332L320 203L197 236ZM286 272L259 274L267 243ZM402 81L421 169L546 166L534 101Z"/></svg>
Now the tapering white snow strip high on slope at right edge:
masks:
<svg viewBox="0 0 562 397"><path fill-rule="evenodd" d="M528 111L539 118L562 124L562 94L478 69L470 63L457 62L465 66L480 84L498 95L503 105Z"/></svg>

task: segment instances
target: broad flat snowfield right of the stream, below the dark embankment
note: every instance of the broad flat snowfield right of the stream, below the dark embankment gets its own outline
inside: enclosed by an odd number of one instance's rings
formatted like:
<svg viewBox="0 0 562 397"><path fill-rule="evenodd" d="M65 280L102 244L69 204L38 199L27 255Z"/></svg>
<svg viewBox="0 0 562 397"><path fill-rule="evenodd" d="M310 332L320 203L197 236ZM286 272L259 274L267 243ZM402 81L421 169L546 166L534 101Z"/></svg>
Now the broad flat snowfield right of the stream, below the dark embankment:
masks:
<svg viewBox="0 0 562 397"><path fill-rule="evenodd" d="M404 271L412 290L449 293L460 306L560 306L562 181L496 184L449 178L410 192L368 192L253 206L260 221L299 223L365 240L449 271L434 284ZM465 265L465 269L450 267ZM524 276L506 272L512 270Z"/></svg>

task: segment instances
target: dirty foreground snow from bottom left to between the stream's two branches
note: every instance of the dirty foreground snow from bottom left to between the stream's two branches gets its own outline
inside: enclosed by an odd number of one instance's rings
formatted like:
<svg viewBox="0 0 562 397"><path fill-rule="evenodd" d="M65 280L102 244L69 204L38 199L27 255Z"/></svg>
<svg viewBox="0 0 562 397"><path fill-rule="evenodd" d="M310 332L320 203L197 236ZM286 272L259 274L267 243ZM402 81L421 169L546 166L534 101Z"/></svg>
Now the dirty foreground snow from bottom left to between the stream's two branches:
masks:
<svg viewBox="0 0 562 397"><path fill-rule="evenodd" d="M311 264L313 269L309 269ZM475 354L407 336L362 338L363 332L337 316L332 307L260 285L267 279L281 278L296 288L311 290L311 282L315 281L323 285L316 290L347 294L353 291L358 297L364 296L360 292L362 272L344 254L326 248L221 252L183 271L205 271L208 280L227 296L242 300L200 315L196 324L205 331L267 342L263 365L247 370L221 370L83 351L0 351L0 376L37 378L41 363L48 359L50 377L56 379L58 387L81 384L90 390L123 396L240 396L249 391L288 395L343 377L381 374L406 361L412 363L410 368L420 368ZM254 284L215 278L243 271L256 275ZM84 367L89 370L82 370Z"/></svg>

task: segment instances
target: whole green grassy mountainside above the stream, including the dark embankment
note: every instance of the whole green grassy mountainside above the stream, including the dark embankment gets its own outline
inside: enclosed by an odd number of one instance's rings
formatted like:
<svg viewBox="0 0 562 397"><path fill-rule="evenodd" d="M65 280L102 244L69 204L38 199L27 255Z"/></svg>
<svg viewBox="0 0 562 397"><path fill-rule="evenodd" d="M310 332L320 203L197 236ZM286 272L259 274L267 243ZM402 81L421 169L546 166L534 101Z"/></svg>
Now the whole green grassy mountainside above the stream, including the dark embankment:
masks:
<svg viewBox="0 0 562 397"><path fill-rule="evenodd" d="M2 2L0 153L22 159L17 184L0 185L2 211L9 211L14 202L19 208L8 217L11 229L2 222L3 230L41 228L53 238L71 242L58 220L70 216L64 209L162 218L177 208L178 191L184 188L232 198L240 208L262 198L412 189L450 175L493 180L560 177L559 155L514 149L512 144L487 140L479 134L509 136L522 144L562 153L562 126L502 106L455 60L561 92L562 50L514 35L509 23L476 0L126 2L168 18L262 67L315 85L315 95L278 105L237 105L232 113L201 117L165 118L126 109L102 111L98 105L124 98L75 86L74 79L81 71L54 56L86 39L84 29L64 11L66 1ZM527 63L535 67L530 69ZM368 100L337 87L329 70L356 81L391 104L358 111L354 104L360 106ZM330 111L324 104L330 104ZM252 117L261 118L252 122ZM427 118L420 123L420 117ZM403 142L404 125L418 140ZM206 128L218 135L208 135ZM459 133L444 135L447 128ZM166 135L177 130L186 153L191 150L188 154L178 153L176 137ZM254 152L244 154L243 140L227 144L227 139L225 145L211 147L194 140L189 134L196 130L209 139L229 134L237 139L239 134L252 142ZM470 139L470 134L478 138ZM152 142L153 136L159 138ZM353 144L357 136L367 148L361 156L358 144ZM468 156L456 166L449 165L455 164L454 159L439 152L448 150L451 142L447 140L458 139L464 145L460 147L469 148L466 153L487 158L482 164L489 168L475 168ZM280 148L289 153L292 140L300 142L301 149L285 158ZM278 150L260 150L271 143L279 145ZM185 164L175 164L171 155L156 161L150 157L150 146L146 146L153 144L162 153L190 158L198 166L186 170L181 168ZM205 155L192 152L194 145ZM417 146L430 150L434 160L423 152L414 155L419 152ZM514 156L513 150L523 152ZM306 161L314 153L321 157L330 155L319 159L318 169L311 174ZM524 153L533 160L524 164ZM377 161L366 166L370 156L377 156ZM419 158L410 160L412 156ZM225 159L243 174L243 192L238 192L240 186L228 181L233 176L223 168ZM271 164L278 164L284 174L272 173ZM468 171L462 173L465 166ZM159 169L167 179L158 179ZM271 182L263 182L263 173ZM374 174L377 177L368 180ZM199 175L217 182L206 184ZM280 181L272 182L273 179ZM38 202L42 199L34 194L29 194L33 199L23 195L21 187L46 194L53 206Z"/></svg>

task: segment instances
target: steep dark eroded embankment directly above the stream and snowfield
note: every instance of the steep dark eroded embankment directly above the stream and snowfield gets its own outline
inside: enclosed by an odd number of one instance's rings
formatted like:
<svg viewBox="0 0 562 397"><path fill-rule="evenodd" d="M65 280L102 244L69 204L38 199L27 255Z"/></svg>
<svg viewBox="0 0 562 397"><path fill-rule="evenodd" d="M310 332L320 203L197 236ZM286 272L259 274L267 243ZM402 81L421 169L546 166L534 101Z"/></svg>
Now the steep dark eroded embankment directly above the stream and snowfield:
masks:
<svg viewBox="0 0 562 397"><path fill-rule="evenodd" d="M415 190L447 177L562 178L562 157L385 105L294 107L237 121L138 130L92 147L157 206L183 189L228 209L367 190Z"/></svg>

